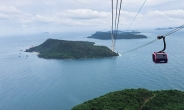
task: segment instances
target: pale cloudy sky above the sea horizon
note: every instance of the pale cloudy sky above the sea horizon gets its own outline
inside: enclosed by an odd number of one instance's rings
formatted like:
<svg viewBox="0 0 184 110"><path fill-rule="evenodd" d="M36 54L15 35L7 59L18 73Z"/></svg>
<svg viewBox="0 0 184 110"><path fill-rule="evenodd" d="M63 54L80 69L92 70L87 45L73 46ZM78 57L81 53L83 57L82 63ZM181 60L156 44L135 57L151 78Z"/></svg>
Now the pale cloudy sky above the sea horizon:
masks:
<svg viewBox="0 0 184 110"><path fill-rule="evenodd" d="M122 0L120 30L128 28L144 1ZM111 0L0 0L0 35L110 30L111 12ZM184 0L146 0L130 30L183 24Z"/></svg>

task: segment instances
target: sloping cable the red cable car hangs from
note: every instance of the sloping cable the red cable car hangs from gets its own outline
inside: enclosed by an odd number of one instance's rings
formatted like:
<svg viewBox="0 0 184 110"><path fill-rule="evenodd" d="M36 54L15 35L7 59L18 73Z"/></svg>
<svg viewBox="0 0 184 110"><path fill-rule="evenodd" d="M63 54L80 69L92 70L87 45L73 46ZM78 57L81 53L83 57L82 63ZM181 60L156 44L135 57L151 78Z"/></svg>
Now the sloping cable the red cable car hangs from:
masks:
<svg viewBox="0 0 184 110"><path fill-rule="evenodd" d="M164 37L169 36L169 35L171 35L171 34L177 32L177 31L181 30L182 28L184 28L184 24L181 25L181 26L179 26L179 27L177 27L177 28L175 28L174 30L168 32L167 34L164 35ZM150 45L150 44L152 44L152 43L154 43L154 42L156 42L156 41L158 41L158 40L159 40L159 39L152 40L152 41L150 41L150 42L148 42L148 43L146 43L146 44L143 44L143 45L141 45L141 46L138 46L138 47L136 47L136 48L133 48L133 49L128 50L128 51L123 52L123 53L129 53L129 52L131 52L131 51L138 50L138 49L143 48L143 47L145 47L145 46L147 46L147 45Z"/></svg>

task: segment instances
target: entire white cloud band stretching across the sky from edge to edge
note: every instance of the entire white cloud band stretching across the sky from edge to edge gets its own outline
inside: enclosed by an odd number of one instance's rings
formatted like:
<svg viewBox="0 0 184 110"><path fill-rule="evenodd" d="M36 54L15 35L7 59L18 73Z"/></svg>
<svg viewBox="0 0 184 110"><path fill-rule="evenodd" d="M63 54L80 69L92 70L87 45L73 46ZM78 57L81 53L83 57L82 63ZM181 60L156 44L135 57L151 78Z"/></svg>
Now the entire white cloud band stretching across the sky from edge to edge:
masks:
<svg viewBox="0 0 184 110"><path fill-rule="evenodd" d="M53 14L29 14L18 10L15 7L1 6L0 18L14 22L19 22L21 25L37 23L37 24L65 24L73 26L94 26L110 24L111 12L96 11L91 9L76 9L64 10ZM128 24L136 15L135 12L121 11L121 22ZM164 22L181 22L184 19L184 10L168 10L168 11L148 11L145 14L139 14L135 22L140 19L144 21L164 21ZM99 24L100 23L100 24Z"/></svg>

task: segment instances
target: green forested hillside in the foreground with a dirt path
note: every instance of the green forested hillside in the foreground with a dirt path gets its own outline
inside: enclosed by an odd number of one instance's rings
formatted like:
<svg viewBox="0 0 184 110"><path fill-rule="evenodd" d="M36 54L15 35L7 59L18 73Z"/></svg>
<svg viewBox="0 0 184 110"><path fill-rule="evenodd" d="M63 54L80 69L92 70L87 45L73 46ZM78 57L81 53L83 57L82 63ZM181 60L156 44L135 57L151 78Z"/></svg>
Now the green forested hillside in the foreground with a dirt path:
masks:
<svg viewBox="0 0 184 110"><path fill-rule="evenodd" d="M125 89L86 101L72 110L184 110L184 92Z"/></svg>

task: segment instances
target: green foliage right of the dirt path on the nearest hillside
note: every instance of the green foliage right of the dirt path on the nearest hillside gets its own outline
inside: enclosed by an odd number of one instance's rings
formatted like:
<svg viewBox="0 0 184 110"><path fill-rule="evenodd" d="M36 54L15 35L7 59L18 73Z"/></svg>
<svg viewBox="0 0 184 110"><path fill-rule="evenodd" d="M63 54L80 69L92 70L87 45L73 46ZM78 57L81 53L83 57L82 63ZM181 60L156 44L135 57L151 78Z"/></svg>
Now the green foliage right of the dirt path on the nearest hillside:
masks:
<svg viewBox="0 0 184 110"><path fill-rule="evenodd" d="M156 96L148 101L142 110L184 110L184 92L164 90L154 94Z"/></svg>

